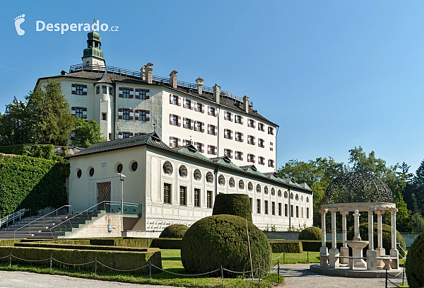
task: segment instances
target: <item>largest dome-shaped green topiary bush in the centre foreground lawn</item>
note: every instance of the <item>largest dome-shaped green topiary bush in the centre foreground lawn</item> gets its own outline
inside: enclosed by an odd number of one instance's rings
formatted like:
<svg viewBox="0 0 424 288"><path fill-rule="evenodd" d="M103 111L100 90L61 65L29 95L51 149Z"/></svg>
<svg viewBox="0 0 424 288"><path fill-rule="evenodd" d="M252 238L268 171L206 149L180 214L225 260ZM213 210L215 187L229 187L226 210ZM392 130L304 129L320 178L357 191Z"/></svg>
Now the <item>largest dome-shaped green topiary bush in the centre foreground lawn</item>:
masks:
<svg viewBox="0 0 424 288"><path fill-rule="evenodd" d="M251 221L247 221L247 226L252 265L254 269L259 266L269 271L272 252L269 241ZM213 215L196 221L182 238L181 261L189 273L211 272L220 269L221 265L236 272L250 271L246 219ZM220 275L220 272L214 274Z"/></svg>

